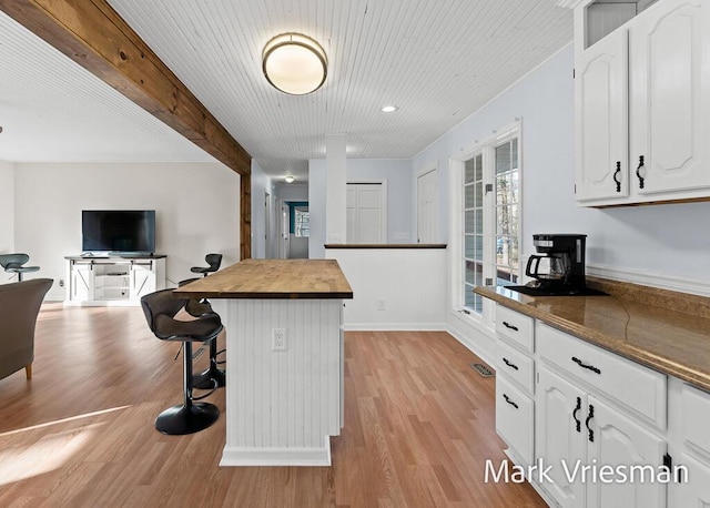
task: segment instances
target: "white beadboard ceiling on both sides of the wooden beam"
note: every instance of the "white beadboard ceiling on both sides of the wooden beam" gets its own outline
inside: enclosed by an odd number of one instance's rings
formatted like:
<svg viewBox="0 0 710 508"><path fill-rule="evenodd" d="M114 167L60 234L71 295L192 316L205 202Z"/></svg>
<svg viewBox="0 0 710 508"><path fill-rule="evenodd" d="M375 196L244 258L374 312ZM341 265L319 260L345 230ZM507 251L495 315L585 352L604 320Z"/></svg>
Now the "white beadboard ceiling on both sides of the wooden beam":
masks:
<svg viewBox="0 0 710 508"><path fill-rule="evenodd" d="M108 1L266 173L300 180L325 134L352 159L413 158L572 39L555 0ZM327 52L312 94L262 75L287 31ZM0 160L212 160L2 13L0 69Z"/></svg>

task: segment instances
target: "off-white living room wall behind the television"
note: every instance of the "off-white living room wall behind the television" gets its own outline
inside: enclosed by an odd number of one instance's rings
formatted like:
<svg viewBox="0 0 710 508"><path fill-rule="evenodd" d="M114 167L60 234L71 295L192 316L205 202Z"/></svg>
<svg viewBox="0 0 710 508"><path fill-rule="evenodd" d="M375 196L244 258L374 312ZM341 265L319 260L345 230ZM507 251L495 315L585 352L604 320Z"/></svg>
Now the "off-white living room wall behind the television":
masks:
<svg viewBox="0 0 710 508"><path fill-rule="evenodd" d="M221 163L17 163L16 247L63 299L67 255L81 253L82 210L155 210L156 252L168 286L193 276L207 253L240 256L240 179ZM28 276L28 278L30 278Z"/></svg>

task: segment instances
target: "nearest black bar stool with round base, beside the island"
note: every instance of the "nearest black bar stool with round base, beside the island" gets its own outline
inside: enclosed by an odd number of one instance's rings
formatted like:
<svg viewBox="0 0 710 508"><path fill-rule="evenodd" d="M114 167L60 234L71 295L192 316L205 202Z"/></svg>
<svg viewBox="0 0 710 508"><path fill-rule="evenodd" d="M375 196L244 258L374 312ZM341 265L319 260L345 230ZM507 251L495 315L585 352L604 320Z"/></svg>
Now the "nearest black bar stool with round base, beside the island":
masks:
<svg viewBox="0 0 710 508"><path fill-rule="evenodd" d="M173 406L161 413L155 419L155 428L163 434L184 435L203 430L220 417L220 409L209 403L197 403L216 389L201 397L192 395L192 343L216 341L222 332L222 321L213 312L202 314L194 321L178 321L175 314L186 304L186 298L173 296L173 289L162 289L141 298L141 306L151 331L161 341L179 341L183 343L183 404Z"/></svg>

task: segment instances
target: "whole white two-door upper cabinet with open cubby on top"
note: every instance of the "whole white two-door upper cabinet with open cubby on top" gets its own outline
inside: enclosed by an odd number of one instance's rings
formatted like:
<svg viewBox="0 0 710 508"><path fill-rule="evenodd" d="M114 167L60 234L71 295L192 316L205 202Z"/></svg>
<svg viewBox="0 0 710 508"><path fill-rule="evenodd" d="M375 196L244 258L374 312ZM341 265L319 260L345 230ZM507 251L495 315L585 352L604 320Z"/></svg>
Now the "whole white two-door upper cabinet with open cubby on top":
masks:
<svg viewBox="0 0 710 508"><path fill-rule="evenodd" d="M626 4L648 8L626 22L628 11L601 16L618 4L587 1L575 12L577 200L709 199L710 2Z"/></svg>

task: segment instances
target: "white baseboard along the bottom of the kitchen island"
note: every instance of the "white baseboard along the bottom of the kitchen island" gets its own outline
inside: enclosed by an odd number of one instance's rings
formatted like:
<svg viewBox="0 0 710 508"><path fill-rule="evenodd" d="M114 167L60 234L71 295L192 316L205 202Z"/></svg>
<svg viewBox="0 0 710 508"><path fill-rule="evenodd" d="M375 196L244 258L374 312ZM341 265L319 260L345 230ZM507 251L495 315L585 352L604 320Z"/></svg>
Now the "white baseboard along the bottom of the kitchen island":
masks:
<svg viewBox="0 0 710 508"><path fill-rule="evenodd" d="M224 447L220 466L331 466L331 436L323 448Z"/></svg>

